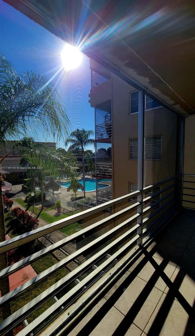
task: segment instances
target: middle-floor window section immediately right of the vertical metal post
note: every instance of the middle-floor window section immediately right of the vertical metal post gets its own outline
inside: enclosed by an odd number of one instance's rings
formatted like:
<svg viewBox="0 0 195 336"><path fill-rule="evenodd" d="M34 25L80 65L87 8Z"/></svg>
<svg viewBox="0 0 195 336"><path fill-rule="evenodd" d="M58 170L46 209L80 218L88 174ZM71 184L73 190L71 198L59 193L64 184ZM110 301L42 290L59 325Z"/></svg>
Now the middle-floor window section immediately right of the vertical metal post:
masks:
<svg viewBox="0 0 195 336"><path fill-rule="evenodd" d="M154 136L144 139L144 159L161 159L161 136Z"/></svg>

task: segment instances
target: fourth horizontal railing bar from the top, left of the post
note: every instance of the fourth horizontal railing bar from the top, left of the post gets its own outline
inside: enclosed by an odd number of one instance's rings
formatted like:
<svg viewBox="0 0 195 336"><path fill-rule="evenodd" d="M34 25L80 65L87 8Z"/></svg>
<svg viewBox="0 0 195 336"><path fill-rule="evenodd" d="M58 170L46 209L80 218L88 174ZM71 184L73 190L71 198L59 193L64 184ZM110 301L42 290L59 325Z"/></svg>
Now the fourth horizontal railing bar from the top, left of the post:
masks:
<svg viewBox="0 0 195 336"><path fill-rule="evenodd" d="M51 287L49 287L46 291L44 291L43 293L41 293L40 295L38 295L35 299L31 300L30 302L28 302L27 304L25 304L22 308L18 309L16 312L14 312L11 316L9 316L7 319L5 319L1 325L0 325L0 330L2 331L2 333L4 331L8 331L10 329L12 329L15 325L17 325L20 321L22 321L30 312L34 311L34 307L38 308L41 304L43 304L45 301L47 301L51 296L53 296L54 294L56 294L56 292L59 291L59 288L63 286L65 286L66 283L70 282L71 279L74 279L75 277L78 276L78 273L81 273L83 271L83 269L86 269L89 265L93 264L96 260L98 260L100 258L101 255L104 255L105 253L108 253L108 251L110 251L111 247L117 245L121 240L123 240L125 237L127 237L131 232L133 232L137 227L139 226L139 224L136 224L133 228L131 228L129 230L129 232L125 232L121 237L117 238L115 243L113 244L110 243L108 246L106 246L104 249L102 249L101 251L99 251L98 253L96 253L94 256L92 256L91 258L89 258L87 261L85 261L83 264L81 264L80 266L78 266L76 269L74 269L73 271L71 271L68 275L66 275L64 278L62 278L61 280L59 280L57 283L55 283L54 285L52 285ZM130 240L130 242L128 242L126 245L132 245L133 242L136 242L137 239L139 238L139 235L136 235L133 239ZM125 250L125 246L124 245L121 249L119 249L119 251L124 251ZM116 259L116 256L120 255L120 252L117 251L114 255L112 255L110 258L107 259L106 262L104 262L103 264L107 263L108 265L111 263L111 261ZM114 257L113 257L114 256ZM103 265L102 264L102 265ZM100 265L98 268L102 268ZM104 267L103 267L104 268ZM97 268L96 268L97 269ZM93 270L93 274L96 271ZM91 273L91 274L92 274ZM87 276L85 279L83 279L79 284L83 284L84 285L81 286L84 287L86 286L87 282L88 282L88 278L91 276L91 274L89 276ZM79 285L78 284L78 285ZM75 288L78 286L76 285L73 288L73 293L75 293ZM71 290L72 291L72 290ZM66 295L69 295L69 293L71 292L69 291ZM6 294L8 295L8 294ZM60 299L61 300L61 299ZM59 301L58 301L59 302ZM53 307L54 305L52 305ZM39 319L39 318L38 318ZM41 320L43 322L43 320Z"/></svg>

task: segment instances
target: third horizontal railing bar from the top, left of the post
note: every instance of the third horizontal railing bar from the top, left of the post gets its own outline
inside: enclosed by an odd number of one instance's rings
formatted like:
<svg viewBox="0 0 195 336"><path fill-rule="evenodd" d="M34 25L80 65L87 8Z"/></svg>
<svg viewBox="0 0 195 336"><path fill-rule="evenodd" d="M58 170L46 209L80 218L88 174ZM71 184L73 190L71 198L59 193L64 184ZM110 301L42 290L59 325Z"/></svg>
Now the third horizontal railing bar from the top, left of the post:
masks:
<svg viewBox="0 0 195 336"><path fill-rule="evenodd" d="M40 281L43 281L45 278L47 278L48 276L50 276L52 273L54 273L56 270L58 270L59 268L65 266L67 263L71 262L72 260L74 260L77 256L79 256L80 254L82 254L83 252L86 252L88 249L90 249L91 247L95 246L96 244L98 244L99 242L101 242L103 239L109 237L110 235L112 235L113 233L117 232L119 229L121 229L123 226L125 226L126 224L129 224L130 222L132 222L133 220L135 220L136 218L139 217L139 214L135 214L134 216L132 216L131 218L128 218L127 220L125 220L123 223L117 225L116 227L114 227L113 229L109 230L108 232L106 232L104 235L96 238L95 240L93 240L92 242L88 243L87 245L83 246L82 248L80 248L79 250L75 251L74 253L70 254L69 256L67 256L66 258L64 258L63 260L59 261L58 263L56 263L55 265L47 268L45 271L43 271L42 273L38 274L36 277L28 280L25 284L20 285L19 287L17 287L16 289L14 289L13 291L7 293L6 295L4 295L1 299L0 299L0 307L5 304L10 302L11 300L13 300L13 297L15 297L16 295L19 295L21 293L23 293L24 291L29 290L31 287L35 286L36 284L38 284ZM136 225L135 225L136 226ZM136 228L139 226L139 224L137 224ZM134 227L133 227L134 230ZM127 233L129 232L129 230L127 231ZM122 236L121 236L122 237ZM119 238L121 238L119 237ZM115 246L115 242L116 240L112 243L113 246ZM84 263L83 263L84 264Z"/></svg>

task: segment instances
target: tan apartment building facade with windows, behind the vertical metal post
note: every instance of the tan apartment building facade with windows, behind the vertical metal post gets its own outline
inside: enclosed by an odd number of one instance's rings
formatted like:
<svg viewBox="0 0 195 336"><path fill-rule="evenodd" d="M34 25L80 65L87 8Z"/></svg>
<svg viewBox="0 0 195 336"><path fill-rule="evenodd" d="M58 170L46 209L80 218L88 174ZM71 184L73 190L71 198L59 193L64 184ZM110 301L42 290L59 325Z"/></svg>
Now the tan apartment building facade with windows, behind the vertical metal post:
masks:
<svg viewBox="0 0 195 336"><path fill-rule="evenodd" d="M112 177L114 199L137 190L138 90L93 60L90 68L89 102L95 109L96 156L100 148L105 152L112 148L112 155L107 156L110 164L107 167L112 167L110 174L105 163L97 158L96 176ZM169 179L179 171L181 120L149 96L145 96L144 108L143 185L146 187ZM160 187L153 192L158 190ZM157 199L158 196L153 202Z"/></svg>

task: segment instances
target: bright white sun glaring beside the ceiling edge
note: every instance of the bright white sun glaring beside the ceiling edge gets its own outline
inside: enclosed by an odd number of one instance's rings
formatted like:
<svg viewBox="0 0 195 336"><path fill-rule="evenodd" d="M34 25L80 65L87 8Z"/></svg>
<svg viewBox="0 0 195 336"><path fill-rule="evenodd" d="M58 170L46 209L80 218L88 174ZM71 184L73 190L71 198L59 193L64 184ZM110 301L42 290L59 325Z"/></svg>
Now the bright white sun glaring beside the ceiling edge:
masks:
<svg viewBox="0 0 195 336"><path fill-rule="evenodd" d="M61 52L62 64L65 70L78 67L82 61L82 53L73 45L66 44Z"/></svg>

